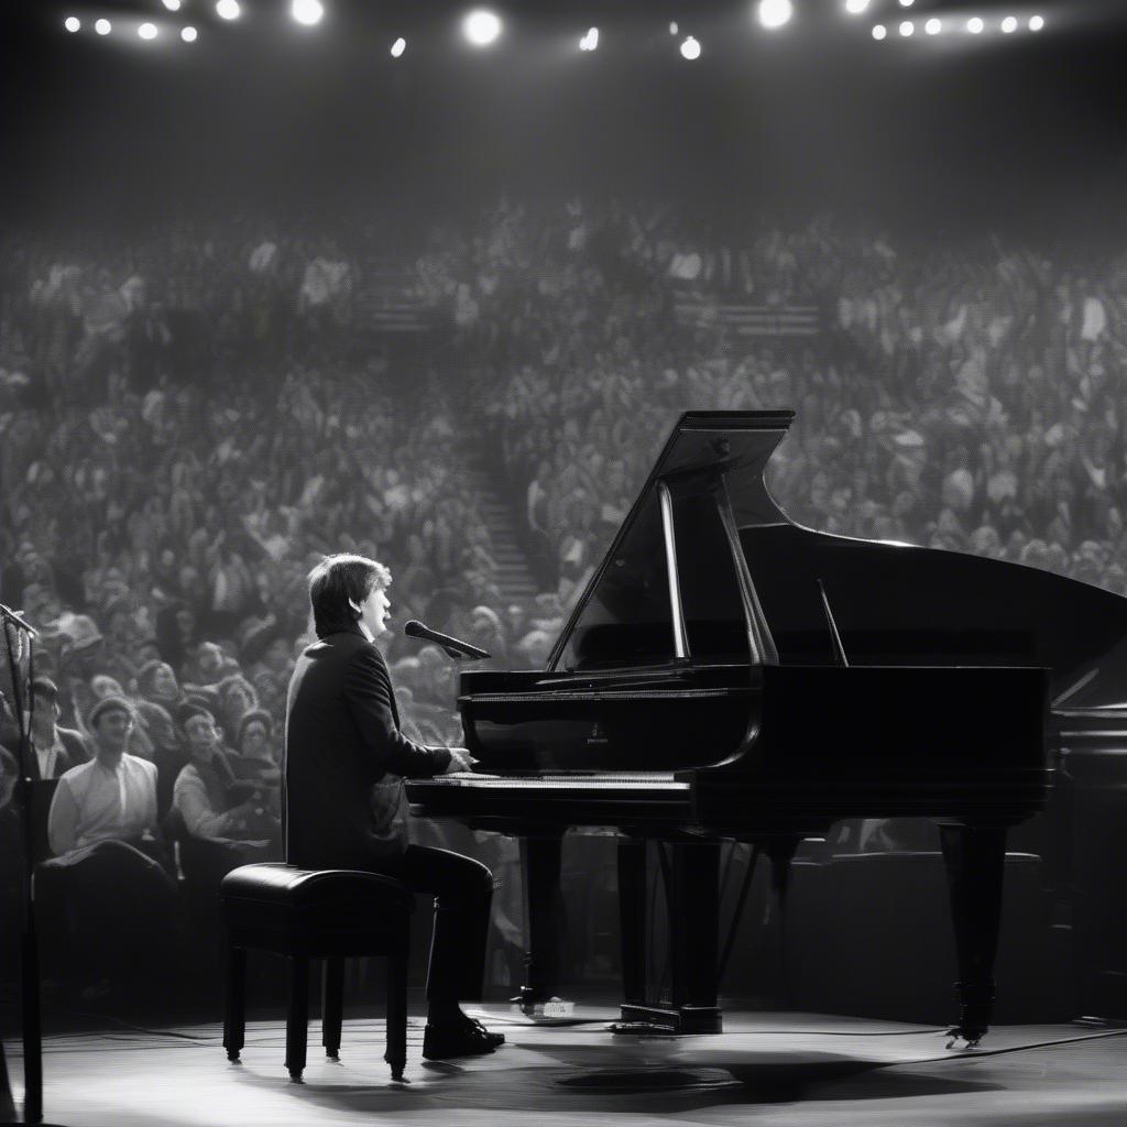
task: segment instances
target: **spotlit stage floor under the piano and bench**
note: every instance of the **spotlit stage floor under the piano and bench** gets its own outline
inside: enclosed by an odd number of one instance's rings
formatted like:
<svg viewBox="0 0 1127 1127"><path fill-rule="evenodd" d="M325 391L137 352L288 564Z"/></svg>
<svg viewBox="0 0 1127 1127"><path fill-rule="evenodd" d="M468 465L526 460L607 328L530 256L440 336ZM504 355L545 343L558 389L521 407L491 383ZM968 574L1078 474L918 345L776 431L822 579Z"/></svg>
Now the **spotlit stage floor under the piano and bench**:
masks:
<svg viewBox="0 0 1127 1127"><path fill-rule="evenodd" d="M414 1012L414 1011L412 1011ZM978 1050L948 1051L942 1030L805 1013L727 1011L719 1036L616 1036L610 1008L532 1024L506 1006L473 1011L508 1042L488 1057L431 1064L423 1022L408 1029L407 1083L382 1061L383 1023L345 1021L339 1064L310 1022L304 1083L283 1066L281 1021L249 1022L241 1064L218 1024L45 1041L45 1120L72 1127L316 1127L319 1124L658 1122L840 1127L1127 1122L1127 1030L1002 1026ZM23 1061L7 1042L17 1098Z"/></svg>

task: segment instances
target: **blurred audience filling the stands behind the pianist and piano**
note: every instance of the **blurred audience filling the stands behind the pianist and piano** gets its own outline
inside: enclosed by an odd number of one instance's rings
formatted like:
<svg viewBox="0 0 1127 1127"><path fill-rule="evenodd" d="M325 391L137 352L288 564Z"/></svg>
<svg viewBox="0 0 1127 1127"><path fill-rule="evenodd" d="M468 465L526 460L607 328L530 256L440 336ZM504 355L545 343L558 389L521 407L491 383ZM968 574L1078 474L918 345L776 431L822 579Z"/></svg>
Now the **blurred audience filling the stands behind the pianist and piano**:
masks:
<svg viewBox="0 0 1127 1127"><path fill-rule="evenodd" d="M347 232L175 225L6 251L0 600L42 632L34 767L65 775L45 849L63 859L143 841L134 863L159 882L214 876L194 840L277 855L284 693L321 553L389 564L400 620L536 664L689 408L798 411L770 485L802 523L1127 594L1127 259L503 201L434 224L411 269L450 337L403 362L353 325ZM686 286L816 305L820 338L686 327ZM520 516L532 605L498 586L474 455ZM387 649L411 734L456 742L452 664L398 635ZM2 671L0 689L10 752ZM149 765L135 817L83 831L87 764L123 752Z"/></svg>

